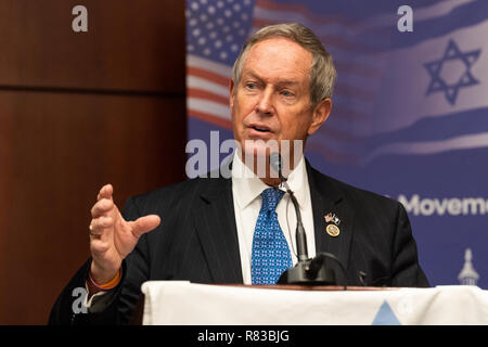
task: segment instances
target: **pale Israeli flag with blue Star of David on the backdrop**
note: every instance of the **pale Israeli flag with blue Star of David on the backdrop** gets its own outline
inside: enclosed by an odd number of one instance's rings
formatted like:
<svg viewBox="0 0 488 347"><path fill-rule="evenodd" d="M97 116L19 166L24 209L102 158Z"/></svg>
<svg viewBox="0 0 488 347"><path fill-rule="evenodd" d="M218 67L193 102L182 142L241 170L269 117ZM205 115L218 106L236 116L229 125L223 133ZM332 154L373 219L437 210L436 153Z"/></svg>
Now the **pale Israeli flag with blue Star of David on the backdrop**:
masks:
<svg viewBox="0 0 488 347"><path fill-rule="evenodd" d="M488 16L488 3L479 5L470 9ZM372 137L365 162L488 146L488 21L466 20L453 11L427 20L446 31L419 33L418 42L384 53L390 64L378 94L388 102L377 103L374 121L361 129Z"/></svg>

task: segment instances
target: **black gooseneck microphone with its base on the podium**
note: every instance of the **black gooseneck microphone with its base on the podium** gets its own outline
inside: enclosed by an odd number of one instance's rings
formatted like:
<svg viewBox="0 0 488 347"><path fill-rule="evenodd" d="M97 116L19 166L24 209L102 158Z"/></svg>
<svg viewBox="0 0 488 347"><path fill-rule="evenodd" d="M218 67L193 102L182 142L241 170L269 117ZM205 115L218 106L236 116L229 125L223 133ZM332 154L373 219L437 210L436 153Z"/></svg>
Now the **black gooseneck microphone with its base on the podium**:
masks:
<svg viewBox="0 0 488 347"><path fill-rule="evenodd" d="M277 284L306 284L306 285L335 285L337 284L335 271L326 266L326 260L332 259L338 264L344 278L344 290L347 288L346 270L341 261L330 253L319 253L313 259L308 257L307 235L305 234L304 224L301 222L301 214L295 194L286 182L287 178L283 177L283 160L280 153L273 152L269 155L269 164L271 168L278 172L280 185L290 194L296 214L296 247L298 262L295 267L287 269L282 273Z"/></svg>

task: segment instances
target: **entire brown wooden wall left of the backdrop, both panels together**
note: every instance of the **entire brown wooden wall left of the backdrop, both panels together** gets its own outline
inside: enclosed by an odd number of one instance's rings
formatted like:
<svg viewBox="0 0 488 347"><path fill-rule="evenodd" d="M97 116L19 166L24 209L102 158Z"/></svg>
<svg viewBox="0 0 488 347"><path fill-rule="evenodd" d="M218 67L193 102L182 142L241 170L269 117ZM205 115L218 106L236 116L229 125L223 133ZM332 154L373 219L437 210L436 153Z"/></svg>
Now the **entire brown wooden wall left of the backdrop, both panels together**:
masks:
<svg viewBox="0 0 488 347"><path fill-rule="evenodd" d="M103 184L121 207L185 179L183 7L0 0L0 324L47 322Z"/></svg>

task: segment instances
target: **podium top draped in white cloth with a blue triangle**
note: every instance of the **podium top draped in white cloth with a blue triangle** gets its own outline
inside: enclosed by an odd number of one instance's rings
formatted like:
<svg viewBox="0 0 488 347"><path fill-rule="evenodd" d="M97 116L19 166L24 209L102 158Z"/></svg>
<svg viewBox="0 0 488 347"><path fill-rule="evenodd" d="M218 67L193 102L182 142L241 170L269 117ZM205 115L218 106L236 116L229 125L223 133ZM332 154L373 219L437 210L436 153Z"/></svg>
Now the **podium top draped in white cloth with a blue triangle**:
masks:
<svg viewBox="0 0 488 347"><path fill-rule="evenodd" d="M150 281L142 285L146 325L488 324L488 291L251 286Z"/></svg>

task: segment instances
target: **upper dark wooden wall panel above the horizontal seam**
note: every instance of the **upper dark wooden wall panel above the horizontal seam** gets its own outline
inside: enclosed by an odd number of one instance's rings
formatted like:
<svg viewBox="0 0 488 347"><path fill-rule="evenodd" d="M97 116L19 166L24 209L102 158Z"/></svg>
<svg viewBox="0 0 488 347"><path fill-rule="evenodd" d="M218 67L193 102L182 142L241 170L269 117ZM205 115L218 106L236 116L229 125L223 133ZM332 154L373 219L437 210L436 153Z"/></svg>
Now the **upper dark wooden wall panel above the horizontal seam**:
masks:
<svg viewBox="0 0 488 347"><path fill-rule="evenodd" d="M88 9L88 33L72 29L78 4ZM0 87L184 93L183 7L175 0L1 0Z"/></svg>

